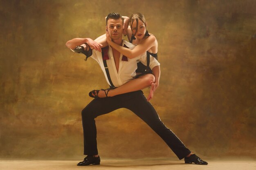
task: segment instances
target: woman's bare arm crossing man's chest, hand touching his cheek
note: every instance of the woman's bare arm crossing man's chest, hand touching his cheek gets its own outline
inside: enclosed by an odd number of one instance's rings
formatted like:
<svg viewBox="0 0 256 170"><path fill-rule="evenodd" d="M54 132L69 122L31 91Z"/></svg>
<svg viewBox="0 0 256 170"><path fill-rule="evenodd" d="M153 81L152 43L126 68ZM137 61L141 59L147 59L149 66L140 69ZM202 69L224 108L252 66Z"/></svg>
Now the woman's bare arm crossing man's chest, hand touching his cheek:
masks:
<svg viewBox="0 0 256 170"><path fill-rule="evenodd" d="M134 47L134 49L131 50L126 47L117 45L115 42L112 42L108 34L108 31L106 31L106 37L107 37L108 44L111 45L111 47L113 47L114 49L116 49L117 51L119 51L121 54L123 54L128 58L135 58L141 54L144 54L146 51L148 51L148 49L150 49L157 43L155 36L149 36L148 38L143 40L139 45Z"/></svg>

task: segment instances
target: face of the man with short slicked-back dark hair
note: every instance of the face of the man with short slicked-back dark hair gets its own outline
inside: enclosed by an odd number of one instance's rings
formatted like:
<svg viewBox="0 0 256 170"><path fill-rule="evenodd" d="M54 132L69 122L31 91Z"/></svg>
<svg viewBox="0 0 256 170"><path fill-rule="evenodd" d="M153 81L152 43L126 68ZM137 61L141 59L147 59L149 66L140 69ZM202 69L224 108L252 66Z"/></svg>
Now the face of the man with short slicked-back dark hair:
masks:
<svg viewBox="0 0 256 170"><path fill-rule="evenodd" d="M113 40L122 38L123 34L123 21L121 18L118 20L109 19L108 20L108 34Z"/></svg>

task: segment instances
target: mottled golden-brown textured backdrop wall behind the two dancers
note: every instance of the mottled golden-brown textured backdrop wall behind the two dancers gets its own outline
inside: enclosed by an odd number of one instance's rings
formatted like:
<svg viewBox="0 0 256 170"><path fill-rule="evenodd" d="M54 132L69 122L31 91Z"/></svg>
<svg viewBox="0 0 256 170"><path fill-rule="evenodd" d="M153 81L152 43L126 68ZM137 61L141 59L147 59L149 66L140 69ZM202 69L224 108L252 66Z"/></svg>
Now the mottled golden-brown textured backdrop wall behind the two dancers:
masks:
<svg viewBox="0 0 256 170"><path fill-rule="evenodd" d="M81 110L107 83L65 42L97 38L114 11L143 13L157 37L151 103L166 126L201 157L256 158L255 9L255 0L1 0L0 158L81 159ZM96 121L101 157L177 159L129 110Z"/></svg>

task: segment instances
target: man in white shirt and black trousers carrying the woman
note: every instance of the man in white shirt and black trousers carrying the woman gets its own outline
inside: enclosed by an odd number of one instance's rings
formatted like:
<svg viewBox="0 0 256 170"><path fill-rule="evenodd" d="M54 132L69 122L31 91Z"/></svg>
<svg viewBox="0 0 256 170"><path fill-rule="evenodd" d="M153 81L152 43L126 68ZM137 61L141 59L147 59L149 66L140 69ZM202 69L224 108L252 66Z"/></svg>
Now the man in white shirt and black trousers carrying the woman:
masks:
<svg viewBox="0 0 256 170"><path fill-rule="evenodd" d="M106 18L108 33L113 42L130 49L134 48L131 43L122 40L124 19L119 13L110 13ZM82 45L85 39L73 39L67 42L67 47L74 45ZM106 80L110 86L119 87L124 83L132 80L136 75L137 60L146 65L146 54L133 59L127 59L125 56L112 49L110 46L103 49L103 53L92 50L85 43L82 53L96 60L105 74ZM98 46L99 47L99 46ZM80 47L77 47L81 48ZM75 50L77 50L75 49ZM106 66L107 65L107 66ZM150 69L153 70L155 76L159 75L160 67L155 58L150 56ZM157 79L157 77L156 77ZM207 165L198 156L185 147L185 145L177 138L177 136L159 119L154 107L146 100L141 90L120 94L113 97L95 98L82 110L83 136L84 136L84 154L85 159L77 164L77 166L99 165L100 157L97 150L97 132L94 118L102 114L107 114L119 108L127 108L134 112L139 118L145 121L173 150L179 159L185 159L185 163L195 163Z"/></svg>

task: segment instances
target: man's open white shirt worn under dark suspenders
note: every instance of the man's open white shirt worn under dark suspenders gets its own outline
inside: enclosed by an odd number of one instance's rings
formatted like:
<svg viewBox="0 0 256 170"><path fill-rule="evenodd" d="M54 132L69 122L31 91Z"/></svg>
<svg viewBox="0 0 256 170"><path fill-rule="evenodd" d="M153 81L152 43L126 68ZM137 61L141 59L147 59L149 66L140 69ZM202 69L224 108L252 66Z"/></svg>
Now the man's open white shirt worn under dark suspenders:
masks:
<svg viewBox="0 0 256 170"><path fill-rule="evenodd" d="M123 40L122 46L124 46L124 44L127 47L129 47L129 49L133 49L135 47L135 45L133 45L130 42L127 42L126 40ZM114 60L113 53L112 53L112 48L110 46L108 49L108 56L109 56L109 59L106 60L107 65L108 65L108 71L110 74L111 81L115 87L119 87L119 86L127 83L128 81L132 80L136 76L135 70L137 69L137 63L139 61L142 64L147 65L147 54L146 53L143 55L140 55L138 57L132 58L132 59L127 58L128 61L122 61L123 54L120 54L119 71L117 72L117 68L115 66L115 60ZM103 58L102 58L101 52L99 52L97 50L92 50L91 57L94 60L96 60L97 63L99 63L99 65L105 75L105 78L106 78L108 84L110 85L110 83L108 81L108 76L106 74L106 70L105 70L105 67L103 64ZM153 56L150 56L150 64L149 64L150 69L153 69L157 65L160 65L160 63L158 63L158 61Z"/></svg>

